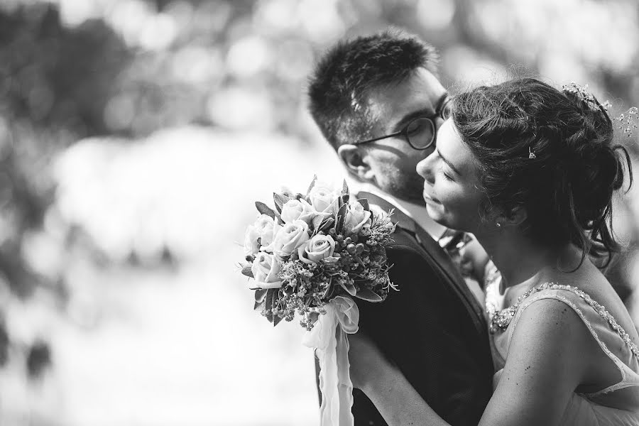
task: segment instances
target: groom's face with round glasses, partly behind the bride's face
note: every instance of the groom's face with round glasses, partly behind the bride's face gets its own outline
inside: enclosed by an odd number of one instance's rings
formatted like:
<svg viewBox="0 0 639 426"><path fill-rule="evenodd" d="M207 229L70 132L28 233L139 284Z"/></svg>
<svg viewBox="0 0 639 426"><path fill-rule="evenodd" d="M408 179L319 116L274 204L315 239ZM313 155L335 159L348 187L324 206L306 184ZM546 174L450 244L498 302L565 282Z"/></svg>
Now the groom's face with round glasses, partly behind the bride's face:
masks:
<svg viewBox="0 0 639 426"><path fill-rule="evenodd" d="M373 90L368 95L374 123L371 137L401 131L417 117L434 117L437 105L446 96L439 80L421 67L402 82ZM437 128L443 122L439 117L432 120ZM405 137L397 136L366 145L367 163L376 185L394 197L422 204L424 180L415 167L432 153L435 144L416 150Z"/></svg>

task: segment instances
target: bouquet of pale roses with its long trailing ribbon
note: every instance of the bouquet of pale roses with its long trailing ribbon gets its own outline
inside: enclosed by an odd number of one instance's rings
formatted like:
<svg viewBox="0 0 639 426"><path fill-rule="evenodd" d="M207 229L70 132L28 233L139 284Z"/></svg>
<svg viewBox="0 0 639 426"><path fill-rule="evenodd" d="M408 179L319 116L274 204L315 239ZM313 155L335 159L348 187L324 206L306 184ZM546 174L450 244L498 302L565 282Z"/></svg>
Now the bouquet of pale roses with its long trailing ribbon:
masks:
<svg viewBox="0 0 639 426"><path fill-rule="evenodd" d="M255 309L269 322L301 317L304 344L320 360L322 425L352 425L353 298L381 302L395 289L386 263L395 224L366 199L351 200L346 182L335 189L315 177L306 195L285 191L273 201L275 210L256 202L260 216L246 229L241 271L255 280Z"/></svg>

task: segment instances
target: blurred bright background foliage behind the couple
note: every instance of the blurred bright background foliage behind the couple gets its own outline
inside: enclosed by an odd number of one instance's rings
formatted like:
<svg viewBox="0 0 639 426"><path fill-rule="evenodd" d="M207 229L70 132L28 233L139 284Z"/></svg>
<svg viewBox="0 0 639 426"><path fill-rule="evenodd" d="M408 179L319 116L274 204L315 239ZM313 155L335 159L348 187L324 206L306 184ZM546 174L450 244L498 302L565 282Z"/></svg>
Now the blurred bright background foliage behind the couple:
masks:
<svg viewBox="0 0 639 426"><path fill-rule="evenodd" d="M453 91L525 73L639 104L635 0L0 1L1 424L316 422L310 354L250 310L229 245L256 197L341 173L306 77L391 25ZM638 219L635 187L608 270L635 322Z"/></svg>

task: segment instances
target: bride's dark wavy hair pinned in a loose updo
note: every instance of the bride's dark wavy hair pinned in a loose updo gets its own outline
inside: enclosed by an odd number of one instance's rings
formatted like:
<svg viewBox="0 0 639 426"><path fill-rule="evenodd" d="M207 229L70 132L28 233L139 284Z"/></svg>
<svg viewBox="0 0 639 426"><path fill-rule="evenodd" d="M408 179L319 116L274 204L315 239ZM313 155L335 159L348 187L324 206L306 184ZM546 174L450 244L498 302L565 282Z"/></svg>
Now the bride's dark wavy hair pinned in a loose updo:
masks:
<svg viewBox="0 0 639 426"><path fill-rule="evenodd" d="M452 119L479 165L491 207L528 213L527 234L542 244L572 242L587 254L618 251L612 197L632 171L613 145L606 110L577 86L559 91L532 78L481 86L453 100ZM607 264L607 263L606 263Z"/></svg>

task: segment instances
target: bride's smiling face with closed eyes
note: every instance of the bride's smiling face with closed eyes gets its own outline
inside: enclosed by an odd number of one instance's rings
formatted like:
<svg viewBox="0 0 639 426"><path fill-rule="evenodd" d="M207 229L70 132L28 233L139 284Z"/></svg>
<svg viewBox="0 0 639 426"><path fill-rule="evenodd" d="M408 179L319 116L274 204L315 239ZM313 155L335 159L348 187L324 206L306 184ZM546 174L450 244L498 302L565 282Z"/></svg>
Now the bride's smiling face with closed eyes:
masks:
<svg viewBox="0 0 639 426"><path fill-rule="evenodd" d="M424 200L435 222L469 232L476 232L484 224L479 170L451 119L439 127L437 147L417 164L417 173L425 179Z"/></svg>

